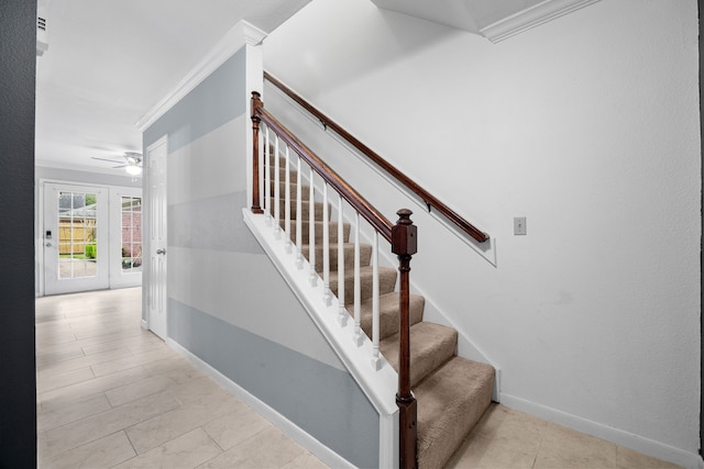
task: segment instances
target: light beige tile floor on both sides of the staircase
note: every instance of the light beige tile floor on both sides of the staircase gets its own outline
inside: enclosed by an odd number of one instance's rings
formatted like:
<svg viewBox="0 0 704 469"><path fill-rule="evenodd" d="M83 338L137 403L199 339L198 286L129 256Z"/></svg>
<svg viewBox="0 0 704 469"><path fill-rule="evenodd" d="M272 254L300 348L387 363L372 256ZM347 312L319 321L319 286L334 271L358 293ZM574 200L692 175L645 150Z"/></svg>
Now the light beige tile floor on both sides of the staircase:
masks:
<svg viewBox="0 0 704 469"><path fill-rule="evenodd" d="M140 327L141 289L36 300L38 464L324 468ZM493 405L449 468L674 468Z"/></svg>

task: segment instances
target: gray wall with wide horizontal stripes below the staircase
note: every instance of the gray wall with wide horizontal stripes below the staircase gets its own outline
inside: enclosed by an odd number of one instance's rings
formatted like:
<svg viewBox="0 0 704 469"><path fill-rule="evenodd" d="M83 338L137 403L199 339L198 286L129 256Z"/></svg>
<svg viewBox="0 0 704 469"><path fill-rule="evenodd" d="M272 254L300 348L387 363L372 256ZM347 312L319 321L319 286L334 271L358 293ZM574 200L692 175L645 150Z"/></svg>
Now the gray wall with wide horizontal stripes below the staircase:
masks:
<svg viewBox="0 0 704 469"><path fill-rule="evenodd" d="M167 336L350 462L376 467L377 412L242 219L245 72L242 48L143 135L145 148L168 139Z"/></svg>

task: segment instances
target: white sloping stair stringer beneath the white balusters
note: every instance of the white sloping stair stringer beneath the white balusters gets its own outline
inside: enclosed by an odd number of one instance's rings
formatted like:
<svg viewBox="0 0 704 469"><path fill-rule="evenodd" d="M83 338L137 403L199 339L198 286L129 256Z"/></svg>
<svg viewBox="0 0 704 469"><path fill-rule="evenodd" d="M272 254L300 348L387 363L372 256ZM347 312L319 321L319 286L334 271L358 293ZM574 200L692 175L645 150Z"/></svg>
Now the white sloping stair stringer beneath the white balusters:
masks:
<svg viewBox="0 0 704 469"><path fill-rule="evenodd" d="M304 258L301 269L296 267L295 248L294 253L286 252L285 242L275 238L271 223L266 223L266 215L254 214L249 209L242 209L242 215L244 223L322 336L378 412L380 468L398 467L398 406L396 405L398 373L386 360L380 370L372 366L372 340L364 336L361 345L358 346L354 343L354 322L346 321L344 325L339 323L338 299L333 295L329 305L321 301L324 294L323 282L318 281L315 287L310 284L308 260Z"/></svg>

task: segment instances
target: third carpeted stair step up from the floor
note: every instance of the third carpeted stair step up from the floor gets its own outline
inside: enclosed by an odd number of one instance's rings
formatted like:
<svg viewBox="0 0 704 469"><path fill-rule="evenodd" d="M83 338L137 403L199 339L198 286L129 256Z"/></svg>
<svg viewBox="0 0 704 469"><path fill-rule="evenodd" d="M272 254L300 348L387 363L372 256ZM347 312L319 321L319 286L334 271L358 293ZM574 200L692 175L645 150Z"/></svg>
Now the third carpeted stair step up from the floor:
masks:
<svg viewBox="0 0 704 469"><path fill-rule="evenodd" d="M346 295L346 293L345 293ZM398 333L398 301L400 294L397 291L382 294L378 298L378 326L380 339ZM426 308L426 299L417 294L410 295L410 324L422 321L422 312ZM354 309L348 306L348 311L354 316ZM372 337L372 299L360 304L360 325L367 337Z"/></svg>

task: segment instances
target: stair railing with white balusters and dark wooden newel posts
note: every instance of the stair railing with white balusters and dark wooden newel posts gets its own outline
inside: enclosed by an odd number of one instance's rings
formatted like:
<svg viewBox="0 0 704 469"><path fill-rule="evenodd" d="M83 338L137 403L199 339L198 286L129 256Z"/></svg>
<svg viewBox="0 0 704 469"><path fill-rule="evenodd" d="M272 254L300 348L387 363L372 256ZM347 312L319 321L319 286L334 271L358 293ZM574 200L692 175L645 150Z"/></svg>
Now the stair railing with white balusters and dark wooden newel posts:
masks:
<svg viewBox="0 0 704 469"><path fill-rule="evenodd" d="M372 265L373 265L373 297L372 297L372 366L376 370L381 369L385 364L380 356L380 287L378 287L378 236L382 236L391 243L392 253L396 254L399 260L399 350L398 350L398 391L396 393L396 403L399 409L399 465L402 468L415 468L418 466L417 456L417 405L410 390L410 260L417 252L417 227L410 220L411 212L402 209L397 212L399 216L396 224L392 224L382 213L380 213L370 202L367 202L360 193L350 187L336 171L326 165L314 152L304 145L296 136L294 136L280 122L278 122L271 113L264 109L261 101L261 94L256 91L252 92L251 100L252 111L252 130L253 130L253 149L252 149L252 208L251 211L256 214L264 214L267 223L271 222L275 233L275 237L283 238L286 243L286 250L293 252L295 237L295 263L298 268L302 268L302 244L304 244L304 225L302 214L302 193L301 193L301 175L308 167L309 180L309 219L308 219L308 263L310 265L310 283L316 286L319 276L317 273L316 259L316 175L322 181L322 280L323 280L323 298L324 304L331 304L330 290L330 232L328 219L329 188L332 188L338 194L338 301L339 301L339 323L344 325L349 316L345 310L344 288L344 254L342 239L343 235L343 201L345 201L354 210L354 291L353 291L353 315L354 315L354 336L353 340L359 345L362 344L363 333L361 330L361 279L360 279L360 216L366 220L373 227L372 243ZM282 145L283 144L283 145ZM292 161L290 153L295 154L295 161ZM283 155L283 157L282 157ZM284 161L282 170L280 161ZM290 168L296 168L296 224L295 230L292 227L292 185ZM273 172L273 174L272 174ZM282 181L282 172L284 178ZM280 190L284 190L284 216L282 228L282 206Z"/></svg>

